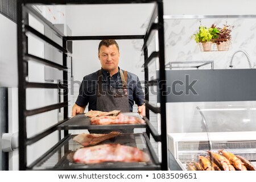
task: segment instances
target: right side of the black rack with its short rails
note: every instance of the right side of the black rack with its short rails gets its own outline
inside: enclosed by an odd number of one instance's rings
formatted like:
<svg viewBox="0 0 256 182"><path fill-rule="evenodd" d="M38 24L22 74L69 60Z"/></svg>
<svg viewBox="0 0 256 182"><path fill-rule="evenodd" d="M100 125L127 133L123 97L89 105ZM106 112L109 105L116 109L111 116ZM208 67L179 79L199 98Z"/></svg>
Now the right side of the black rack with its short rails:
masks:
<svg viewBox="0 0 256 182"><path fill-rule="evenodd" d="M155 20L157 19L157 23L155 23ZM152 40L152 37L155 35L154 32L158 31L158 49L159 51L154 51L151 53L151 55L148 56L148 45L150 40ZM161 151L162 151L162 163L161 168L162 170L168 169L168 158L167 158L167 130L166 130L166 96L164 92L166 92L166 72L165 72L165 61L164 61L164 21L163 21L163 2L158 2L158 6L156 6L154 13L152 15L152 18L150 20L150 23L147 28L146 35L144 37L144 44L142 47L142 51L144 53L144 79L146 81L145 89L146 89L146 95L145 95L145 104L146 104L146 117L143 117L144 120L147 123L147 135L148 137L150 134L155 139L156 142L162 142L161 145ZM151 80L148 81L148 64L151 63L152 60L154 60L156 57L158 57L159 60L159 77L158 80ZM155 86L158 85L159 91L158 94L160 95L160 107L155 106L150 103L149 101L149 86ZM160 114L160 131L161 134L158 133L158 131L155 130L154 126L150 123L150 110L153 111L156 114Z"/></svg>

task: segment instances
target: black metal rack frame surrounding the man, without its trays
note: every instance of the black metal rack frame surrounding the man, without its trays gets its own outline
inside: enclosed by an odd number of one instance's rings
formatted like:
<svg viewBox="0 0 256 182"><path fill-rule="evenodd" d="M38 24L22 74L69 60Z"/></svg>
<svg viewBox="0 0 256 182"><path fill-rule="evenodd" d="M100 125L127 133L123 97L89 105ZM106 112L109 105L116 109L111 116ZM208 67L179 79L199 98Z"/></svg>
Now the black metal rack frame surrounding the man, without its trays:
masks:
<svg viewBox="0 0 256 182"><path fill-rule="evenodd" d="M152 14L152 18L150 20L150 23L148 25L147 31L145 35L121 35L121 36L65 36L63 35L59 30L57 30L56 27L52 26L51 23L48 22L41 14L39 14L34 8L31 6L31 3L41 3L41 4L59 4L59 5L67 5L67 4L112 4L112 3L155 3L154 12ZM62 41L63 45L60 46L59 44L53 42L51 39L47 38L45 35L41 34L39 31L35 30L28 24L28 14L32 14L34 18L39 20L41 23L44 24L44 26L47 26L50 28L50 30L57 36L59 36ZM158 23L155 23L155 19L158 18ZM63 102L40 107L38 109L32 109L27 110L26 108L26 89L27 88L45 88L45 89L63 89L64 93L68 93L68 68L67 68L67 56L71 56L71 52L67 49L67 42L73 41L73 40L101 40L101 39L143 39L144 45L143 45L143 51L144 51L144 69L145 69L145 79L148 80L147 75L147 64L150 63L150 61L155 58L159 57L160 61L160 77L159 80L166 80L165 78L165 72L164 72L164 29L163 29L163 2L158 1L94 1L94 0L88 0L88 1L61 1L61 0L52 0L52 1L40 1L40 0L20 0L18 1L18 20L17 20L17 27L18 27L18 75L19 75L19 86L18 86L18 97L19 97L19 169L20 170L33 170L33 169L39 169L41 164L47 163L47 160L52 155L57 155L57 163L64 162L64 165L60 165L60 167L57 167L56 165L46 167L44 169L65 169L65 170L84 170L84 169L99 169L100 167L85 167L84 165L66 165L67 164L67 158L66 154L61 155L61 149L64 147L67 148L68 143L71 141L71 137L68 134L68 129L71 128L63 128L61 125L63 125L65 122L69 121L68 118L68 94L63 95ZM153 52L149 57L147 57L147 46L148 46L148 40L151 39L152 31L158 30L158 39L159 39L159 51ZM63 53L63 64L56 64L52 61L42 59L35 55L30 55L28 53L28 39L27 39L27 33L30 33L34 35L36 38L42 40L45 43L50 44L52 47L55 47L60 52ZM63 84L52 84L52 83L39 83L39 82L28 82L26 81L26 68L27 68L27 62L29 61L36 61L38 63L48 65L52 68L57 68L60 71L63 71ZM151 86L150 83L146 85ZM160 94L164 92L165 84L164 82L161 82L160 85ZM141 137L143 137L144 145L147 147L148 153L151 156L152 164L130 164L125 165L125 167L120 168L120 166L123 166L123 163L121 163L119 166L118 164L115 165L113 168L110 167L109 169L126 169L126 170L135 170L135 169L162 169L167 170L168 169L168 163L167 163L167 134L166 134L166 97L161 97L161 107L155 107L154 105L151 105L148 102L148 96L146 95L146 117L144 117L147 125L147 134L143 133L141 134ZM45 113L46 111L60 109L61 107L64 108L64 119L63 121L58 122L55 125L52 125L48 129L42 131L39 134L34 135L33 137L28 138L27 137L27 117L31 115L36 115L39 113ZM161 134L159 135L158 132L154 129L154 127L151 125L149 121L149 110L152 110L154 113L160 113L161 114ZM141 127L141 126L137 126ZM144 127L144 126L143 126ZM56 143L55 146L53 146L51 149L49 149L44 155L42 155L39 159L36 159L30 166L27 166L27 147L31 144L34 144L38 142L38 140L43 139L47 135L53 133L56 130L64 129L64 138L61 139L58 143ZM154 150L152 149L150 140L148 138L149 135L152 135L153 138L156 140L156 142L162 143L162 162L160 163L158 159L156 158L156 155L154 153ZM135 136L135 135L134 135ZM58 152L59 151L59 152ZM99 165L101 166L101 165ZM40 168L42 169L42 168ZM104 169L104 168L100 168Z"/></svg>

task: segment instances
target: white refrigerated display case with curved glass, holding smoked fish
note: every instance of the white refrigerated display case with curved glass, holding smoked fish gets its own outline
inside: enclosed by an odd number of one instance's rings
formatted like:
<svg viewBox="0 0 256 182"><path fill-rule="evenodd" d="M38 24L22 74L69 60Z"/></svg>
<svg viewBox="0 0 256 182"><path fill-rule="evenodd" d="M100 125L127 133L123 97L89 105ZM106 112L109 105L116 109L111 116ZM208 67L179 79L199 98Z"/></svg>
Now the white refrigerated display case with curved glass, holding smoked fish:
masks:
<svg viewBox="0 0 256 182"><path fill-rule="evenodd" d="M241 156L256 166L255 103L219 103L195 107L187 125L200 129L168 134L170 169L188 170L189 164L199 162L200 156L210 156L209 151L223 156L222 150Z"/></svg>

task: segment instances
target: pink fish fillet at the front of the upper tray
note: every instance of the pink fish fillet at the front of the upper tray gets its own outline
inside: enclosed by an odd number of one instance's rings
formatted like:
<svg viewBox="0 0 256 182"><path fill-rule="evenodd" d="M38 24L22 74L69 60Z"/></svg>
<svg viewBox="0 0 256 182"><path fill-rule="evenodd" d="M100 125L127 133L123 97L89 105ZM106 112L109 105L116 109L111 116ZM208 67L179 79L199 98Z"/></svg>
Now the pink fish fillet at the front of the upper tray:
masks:
<svg viewBox="0 0 256 182"><path fill-rule="evenodd" d="M90 118L92 125L122 125L122 124L144 124L142 118L119 114L117 116L102 116Z"/></svg>

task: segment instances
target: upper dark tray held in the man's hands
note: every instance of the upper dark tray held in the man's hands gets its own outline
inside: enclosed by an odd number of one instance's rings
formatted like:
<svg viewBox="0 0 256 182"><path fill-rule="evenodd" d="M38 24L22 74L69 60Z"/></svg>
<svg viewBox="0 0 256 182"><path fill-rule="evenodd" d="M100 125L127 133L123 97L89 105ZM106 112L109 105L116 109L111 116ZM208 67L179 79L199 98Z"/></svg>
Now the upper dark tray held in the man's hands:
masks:
<svg viewBox="0 0 256 182"><path fill-rule="evenodd" d="M141 118L138 113L122 113L125 115L132 115L135 117ZM146 125L140 124L126 124L126 125L91 125L90 118L86 117L83 114L78 114L75 117L69 119L68 121L62 123L57 126L57 130L81 130L81 129L89 129L89 130L114 130L114 129L134 129L134 128L145 128Z"/></svg>

